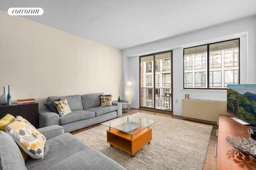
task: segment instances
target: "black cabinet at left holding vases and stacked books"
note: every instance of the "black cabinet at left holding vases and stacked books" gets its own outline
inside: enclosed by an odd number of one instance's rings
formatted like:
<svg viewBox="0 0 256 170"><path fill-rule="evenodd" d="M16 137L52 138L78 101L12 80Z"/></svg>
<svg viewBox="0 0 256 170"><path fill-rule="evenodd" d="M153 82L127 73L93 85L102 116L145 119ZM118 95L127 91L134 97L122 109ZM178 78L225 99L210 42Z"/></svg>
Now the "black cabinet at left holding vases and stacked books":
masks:
<svg viewBox="0 0 256 170"><path fill-rule="evenodd" d="M35 128L39 128L38 103L12 104L11 106L0 105L0 119L7 113L27 119Z"/></svg>

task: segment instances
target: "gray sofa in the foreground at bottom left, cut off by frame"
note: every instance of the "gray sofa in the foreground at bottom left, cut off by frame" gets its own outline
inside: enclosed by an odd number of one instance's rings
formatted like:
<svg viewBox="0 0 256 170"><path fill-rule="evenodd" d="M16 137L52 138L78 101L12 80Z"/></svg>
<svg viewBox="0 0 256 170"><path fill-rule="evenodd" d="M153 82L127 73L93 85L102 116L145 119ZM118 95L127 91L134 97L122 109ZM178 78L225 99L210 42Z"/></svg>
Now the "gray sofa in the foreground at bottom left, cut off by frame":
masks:
<svg viewBox="0 0 256 170"><path fill-rule="evenodd" d="M126 170L123 166L71 135L61 126L39 128L46 137L44 158L24 161L12 137L0 131L0 170Z"/></svg>

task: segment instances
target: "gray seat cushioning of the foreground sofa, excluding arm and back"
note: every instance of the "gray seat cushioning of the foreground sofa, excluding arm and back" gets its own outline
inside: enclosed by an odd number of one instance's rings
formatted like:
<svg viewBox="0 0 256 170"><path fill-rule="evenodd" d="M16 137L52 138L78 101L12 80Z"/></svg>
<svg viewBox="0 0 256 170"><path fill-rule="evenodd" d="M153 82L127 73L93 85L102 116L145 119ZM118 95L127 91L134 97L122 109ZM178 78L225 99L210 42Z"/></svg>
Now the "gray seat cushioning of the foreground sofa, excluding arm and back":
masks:
<svg viewBox="0 0 256 170"><path fill-rule="evenodd" d="M64 133L46 141L44 160L28 158L28 169L40 170L122 170L125 168L99 151Z"/></svg>

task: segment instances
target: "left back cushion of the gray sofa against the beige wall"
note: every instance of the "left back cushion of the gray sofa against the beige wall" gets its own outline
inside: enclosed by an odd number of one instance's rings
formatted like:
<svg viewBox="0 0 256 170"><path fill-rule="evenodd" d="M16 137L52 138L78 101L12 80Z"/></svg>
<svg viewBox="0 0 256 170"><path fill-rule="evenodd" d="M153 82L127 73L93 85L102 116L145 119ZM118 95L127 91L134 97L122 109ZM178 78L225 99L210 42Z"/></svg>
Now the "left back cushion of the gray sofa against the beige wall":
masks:
<svg viewBox="0 0 256 170"><path fill-rule="evenodd" d="M82 100L81 100L81 95L72 95L72 96L50 96L47 98L47 102L53 102L58 100L60 98L61 100L67 99L68 100L68 105L71 109L71 111L75 110L82 110L83 105L82 105Z"/></svg>

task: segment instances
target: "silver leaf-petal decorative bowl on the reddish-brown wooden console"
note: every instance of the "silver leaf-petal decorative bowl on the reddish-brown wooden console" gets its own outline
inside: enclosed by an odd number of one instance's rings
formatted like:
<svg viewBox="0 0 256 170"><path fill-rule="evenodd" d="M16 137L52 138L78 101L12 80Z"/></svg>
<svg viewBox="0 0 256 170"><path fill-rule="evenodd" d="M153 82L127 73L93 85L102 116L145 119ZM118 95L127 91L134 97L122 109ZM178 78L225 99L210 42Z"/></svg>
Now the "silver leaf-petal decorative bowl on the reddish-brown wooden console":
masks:
<svg viewBox="0 0 256 170"><path fill-rule="evenodd" d="M246 154L250 154L252 156L256 156L256 141L249 137L246 138L240 138L240 137L230 137L227 136L226 141L229 145L231 145L233 148L238 150L239 152L244 152Z"/></svg>

